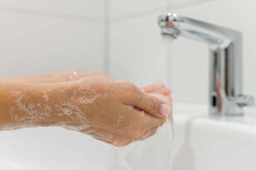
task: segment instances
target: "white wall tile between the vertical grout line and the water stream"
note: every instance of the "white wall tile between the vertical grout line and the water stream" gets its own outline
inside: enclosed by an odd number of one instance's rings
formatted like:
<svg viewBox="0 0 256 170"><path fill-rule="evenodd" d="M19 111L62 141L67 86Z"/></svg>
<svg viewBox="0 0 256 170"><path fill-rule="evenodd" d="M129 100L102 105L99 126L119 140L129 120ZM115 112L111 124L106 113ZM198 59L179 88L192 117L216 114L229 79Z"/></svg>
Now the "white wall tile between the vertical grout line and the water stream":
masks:
<svg viewBox="0 0 256 170"><path fill-rule="evenodd" d="M110 74L138 86L154 83L159 53L159 14L111 25Z"/></svg>

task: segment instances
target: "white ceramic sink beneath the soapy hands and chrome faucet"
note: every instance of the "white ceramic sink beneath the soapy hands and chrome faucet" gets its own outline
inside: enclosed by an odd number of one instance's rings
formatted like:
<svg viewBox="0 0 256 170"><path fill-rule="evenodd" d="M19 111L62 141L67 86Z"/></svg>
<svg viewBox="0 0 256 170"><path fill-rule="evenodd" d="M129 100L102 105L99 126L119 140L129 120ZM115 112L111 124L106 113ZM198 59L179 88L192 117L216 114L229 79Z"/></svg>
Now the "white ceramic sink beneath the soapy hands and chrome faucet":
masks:
<svg viewBox="0 0 256 170"><path fill-rule="evenodd" d="M256 170L256 109L210 117L174 104L171 170ZM62 128L0 132L1 170L105 170L112 146Z"/></svg>

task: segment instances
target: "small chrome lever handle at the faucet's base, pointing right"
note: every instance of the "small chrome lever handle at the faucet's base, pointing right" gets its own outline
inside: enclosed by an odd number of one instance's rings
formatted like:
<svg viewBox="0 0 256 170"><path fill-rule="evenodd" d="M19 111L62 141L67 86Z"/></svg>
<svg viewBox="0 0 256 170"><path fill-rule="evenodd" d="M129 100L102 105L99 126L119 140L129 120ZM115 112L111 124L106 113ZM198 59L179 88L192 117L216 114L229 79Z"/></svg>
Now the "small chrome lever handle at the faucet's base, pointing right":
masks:
<svg viewBox="0 0 256 170"><path fill-rule="evenodd" d="M254 98L249 95L237 95L237 96L229 96L228 100L231 103L236 103L238 106L243 107L243 106L250 106L253 105L254 103Z"/></svg>

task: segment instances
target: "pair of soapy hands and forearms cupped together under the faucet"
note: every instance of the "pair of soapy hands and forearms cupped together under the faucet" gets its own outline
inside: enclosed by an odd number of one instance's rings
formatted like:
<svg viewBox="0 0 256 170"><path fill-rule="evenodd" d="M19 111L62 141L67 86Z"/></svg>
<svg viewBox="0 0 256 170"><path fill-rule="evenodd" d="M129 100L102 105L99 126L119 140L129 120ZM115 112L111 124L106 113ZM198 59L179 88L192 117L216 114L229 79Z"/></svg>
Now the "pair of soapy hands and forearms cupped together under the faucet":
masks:
<svg viewBox="0 0 256 170"><path fill-rule="evenodd" d="M1 78L0 130L58 126L128 145L152 136L171 115L168 88L142 89L82 70ZM170 103L147 92L159 93Z"/></svg>

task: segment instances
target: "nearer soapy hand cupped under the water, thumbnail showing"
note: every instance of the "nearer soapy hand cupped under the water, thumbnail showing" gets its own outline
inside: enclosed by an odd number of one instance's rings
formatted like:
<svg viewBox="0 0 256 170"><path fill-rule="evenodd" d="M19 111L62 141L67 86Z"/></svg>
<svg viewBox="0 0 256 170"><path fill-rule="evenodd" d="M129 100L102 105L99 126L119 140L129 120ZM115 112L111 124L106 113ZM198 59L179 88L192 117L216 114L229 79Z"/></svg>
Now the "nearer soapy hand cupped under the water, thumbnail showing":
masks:
<svg viewBox="0 0 256 170"><path fill-rule="evenodd" d="M75 81L74 85L80 92L72 106L79 106L81 113L78 110L74 110L76 116L58 113L67 118L63 127L90 134L106 143L124 146L145 139L171 114L168 105L127 81L94 76ZM68 98L64 103L62 106L68 105Z"/></svg>

